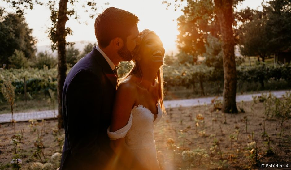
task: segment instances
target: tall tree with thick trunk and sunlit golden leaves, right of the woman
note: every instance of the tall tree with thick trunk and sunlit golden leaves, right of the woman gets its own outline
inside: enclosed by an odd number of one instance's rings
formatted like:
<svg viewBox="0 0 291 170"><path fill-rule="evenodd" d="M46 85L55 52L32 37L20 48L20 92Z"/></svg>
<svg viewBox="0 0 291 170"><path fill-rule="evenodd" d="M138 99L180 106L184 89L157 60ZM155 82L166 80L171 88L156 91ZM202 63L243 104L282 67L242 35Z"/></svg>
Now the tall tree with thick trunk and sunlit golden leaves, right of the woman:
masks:
<svg viewBox="0 0 291 170"><path fill-rule="evenodd" d="M177 2L176 0L175 2ZM180 0L183 1L183 0ZM234 20L233 6L243 0L193 0L187 1L182 10L184 15L177 20L178 48L195 56L206 52L210 41L207 37L222 39L221 49L224 69L223 111L237 113L236 107L236 63L234 56L235 32L237 21ZM167 1L168 6L171 5ZM179 6L179 5L178 5ZM207 45L208 44L208 45ZM217 53L219 54L219 53ZM219 56L219 55L217 55Z"/></svg>

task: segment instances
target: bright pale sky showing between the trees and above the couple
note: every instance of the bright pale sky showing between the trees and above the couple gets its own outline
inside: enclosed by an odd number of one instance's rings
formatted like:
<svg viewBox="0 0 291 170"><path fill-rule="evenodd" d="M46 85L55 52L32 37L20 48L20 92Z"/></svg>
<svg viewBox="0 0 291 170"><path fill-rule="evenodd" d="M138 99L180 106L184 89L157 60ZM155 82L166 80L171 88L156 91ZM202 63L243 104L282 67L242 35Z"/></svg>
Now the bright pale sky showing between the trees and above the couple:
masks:
<svg viewBox="0 0 291 170"><path fill-rule="evenodd" d="M163 42L166 54L176 53L176 37L179 34L177 29L176 19L183 15L181 8L177 11L174 10L175 0L169 0L172 5L167 9L166 4L162 4L163 0L98 0L95 1L98 7L98 13L107 7L116 7L132 12L140 19L138 23L139 31L150 29L157 33ZM109 2L108 5L105 3ZM249 6L252 9L259 7L262 0L245 0L241 5L237 6L238 9L243 9ZM186 5L186 2L183 2ZM0 2L1 7L6 7L5 2ZM89 18L89 13L84 12L80 3L76 3L75 9L80 16L80 23L76 19L69 19L66 23L73 31L73 35L67 36L67 42L77 41L92 41L96 42L94 34L94 19ZM260 9L260 8L259 8ZM7 12L12 10L6 8ZM37 39L37 46L50 45L51 41L48 38L46 31L51 26L50 10L46 6L36 5L33 10L27 10L25 14L26 22L29 28L33 29L32 35Z"/></svg>

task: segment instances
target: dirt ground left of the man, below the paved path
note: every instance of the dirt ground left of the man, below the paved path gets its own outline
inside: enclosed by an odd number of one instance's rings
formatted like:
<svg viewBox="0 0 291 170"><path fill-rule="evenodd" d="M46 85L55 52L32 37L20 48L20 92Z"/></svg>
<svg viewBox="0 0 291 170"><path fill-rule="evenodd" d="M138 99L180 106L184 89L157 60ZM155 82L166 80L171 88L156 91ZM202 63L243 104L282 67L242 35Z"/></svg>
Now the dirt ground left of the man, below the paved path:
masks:
<svg viewBox="0 0 291 170"><path fill-rule="evenodd" d="M22 160L21 169L29 169L33 162L50 162L51 156L56 153L62 153L64 141L64 129L57 129L57 120L47 120L38 122L18 122L15 123L15 131L10 123L2 124L0 128L0 169L12 169L11 160L14 155L14 145L11 144L13 135L21 133L23 137L17 144L17 154ZM32 125L30 127L30 125ZM41 138L42 145L38 141ZM40 158L37 154L37 145L43 146L40 152ZM42 160L42 161L41 161Z"/></svg>

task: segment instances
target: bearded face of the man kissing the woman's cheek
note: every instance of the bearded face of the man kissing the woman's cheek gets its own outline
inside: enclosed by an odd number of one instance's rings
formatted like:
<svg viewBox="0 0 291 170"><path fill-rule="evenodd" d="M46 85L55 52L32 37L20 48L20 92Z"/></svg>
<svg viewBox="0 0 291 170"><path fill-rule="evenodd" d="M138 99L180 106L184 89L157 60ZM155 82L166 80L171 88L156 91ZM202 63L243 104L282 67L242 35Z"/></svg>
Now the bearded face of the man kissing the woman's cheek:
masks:
<svg viewBox="0 0 291 170"><path fill-rule="evenodd" d="M132 60L132 51L136 46L138 33L137 25L132 27L130 29L130 35L126 38L126 42L124 42L124 46L117 51L122 61Z"/></svg>

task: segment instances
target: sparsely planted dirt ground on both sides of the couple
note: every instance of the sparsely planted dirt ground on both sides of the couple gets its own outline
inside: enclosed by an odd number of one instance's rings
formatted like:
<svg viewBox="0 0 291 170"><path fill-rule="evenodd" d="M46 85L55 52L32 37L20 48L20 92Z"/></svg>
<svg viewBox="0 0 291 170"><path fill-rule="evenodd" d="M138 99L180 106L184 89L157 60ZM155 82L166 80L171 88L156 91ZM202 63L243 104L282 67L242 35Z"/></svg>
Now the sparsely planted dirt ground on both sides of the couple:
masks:
<svg viewBox="0 0 291 170"><path fill-rule="evenodd" d="M278 126L275 135L279 122L276 117L265 122L266 135L262 137L265 120L262 103L237 103L237 107L243 108L245 113L225 114L225 118L220 111L210 112L213 110L212 105L167 109L167 116L161 119L154 130L161 168L258 169L255 166L256 158L260 162L291 162L290 120L283 124L284 131L279 145L281 126ZM56 120L47 120L44 125L39 121L32 127L30 124L31 122L16 123L15 132L11 124L1 125L0 169L12 169L10 162L14 145L10 141L21 130L24 130L23 137L17 145L17 154L22 160L21 169L29 169L33 162L49 162L51 155L61 153L64 130L56 130ZM267 135L270 137L273 154L266 154L269 141ZM37 151L35 142L39 138L43 141L43 154L40 152L40 156L33 154ZM248 148L248 143L253 140L257 149ZM189 150L194 150L195 153L191 161L182 157L182 152Z"/></svg>

